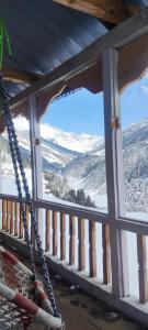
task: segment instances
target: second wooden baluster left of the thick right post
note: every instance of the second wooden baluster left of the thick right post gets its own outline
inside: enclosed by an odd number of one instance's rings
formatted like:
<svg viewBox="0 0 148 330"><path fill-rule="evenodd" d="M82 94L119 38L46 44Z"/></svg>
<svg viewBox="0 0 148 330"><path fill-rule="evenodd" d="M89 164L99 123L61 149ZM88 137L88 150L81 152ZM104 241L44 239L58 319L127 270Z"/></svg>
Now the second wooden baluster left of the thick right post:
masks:
<svg viewBox="0 0 148 330"><path fill-rule="evenodd" d="M90 277L96 276L96 222L89 221L89 265Z"/></svg>

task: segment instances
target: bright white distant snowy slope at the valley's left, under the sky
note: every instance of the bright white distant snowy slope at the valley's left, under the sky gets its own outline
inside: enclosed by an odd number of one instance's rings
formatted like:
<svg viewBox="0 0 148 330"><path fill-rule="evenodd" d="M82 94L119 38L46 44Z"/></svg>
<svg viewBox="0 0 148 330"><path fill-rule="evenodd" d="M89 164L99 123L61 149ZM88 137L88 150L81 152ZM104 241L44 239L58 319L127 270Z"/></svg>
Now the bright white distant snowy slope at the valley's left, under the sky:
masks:
<svg viewBox="0 0 148 330"><path fill-rule="evenodd" d="M25 118L14 119L14 127L19 136L19 143L23 150L30 154L30 132L29 121ZM2 134L7 139L7 133ZM46 168L62 168L71 160L81 156L86 152L91 152L102 144L102 136L91 136L88 134L73 134L64 132L48 124L41 124L42 156ZM26 154L26 152L25 152Z"/></svg>

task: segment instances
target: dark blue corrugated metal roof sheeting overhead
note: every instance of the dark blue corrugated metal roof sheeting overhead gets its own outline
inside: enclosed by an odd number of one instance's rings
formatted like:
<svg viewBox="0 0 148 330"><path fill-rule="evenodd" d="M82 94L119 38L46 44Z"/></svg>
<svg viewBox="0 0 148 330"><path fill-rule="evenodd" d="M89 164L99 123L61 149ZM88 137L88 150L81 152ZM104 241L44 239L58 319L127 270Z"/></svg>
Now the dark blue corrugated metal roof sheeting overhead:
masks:
<svg viewBox="0 0 148 330"><path fill-rule="evenodd" d="M13 52L4 64L33 73L53 70L107 31L95 18L52 0L0 0L0 15ZM12 95L25 87L8 86Z"/></svg>

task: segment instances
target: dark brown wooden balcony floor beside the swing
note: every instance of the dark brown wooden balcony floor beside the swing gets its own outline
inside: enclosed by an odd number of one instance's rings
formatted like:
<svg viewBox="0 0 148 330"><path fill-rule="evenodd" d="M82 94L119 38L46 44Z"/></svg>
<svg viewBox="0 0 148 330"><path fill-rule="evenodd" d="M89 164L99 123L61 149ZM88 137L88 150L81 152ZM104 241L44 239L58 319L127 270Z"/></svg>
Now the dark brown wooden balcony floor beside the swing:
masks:
<svg viewBox="0 0 148 330"><path fill-rule="evenodd" d="M19 258L30 267L25 257ZM38 266L37 273L42 279ZM81 288L71 286L58 275L53 274L52 282L57 305L66 322L66 330L145 330L145 327L89 296ZM42 329L45 328L36 324L30 327L30 330Z"/></svg>

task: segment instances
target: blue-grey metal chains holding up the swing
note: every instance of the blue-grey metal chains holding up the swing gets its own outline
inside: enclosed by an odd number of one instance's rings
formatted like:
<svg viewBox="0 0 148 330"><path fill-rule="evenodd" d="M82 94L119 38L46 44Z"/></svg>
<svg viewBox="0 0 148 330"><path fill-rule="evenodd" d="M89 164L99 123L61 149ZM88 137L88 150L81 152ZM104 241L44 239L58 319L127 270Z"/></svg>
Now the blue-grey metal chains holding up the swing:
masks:
<svg viewBox="0 0 148 330"><path fill-rule="evenodd" d="M18 138L15 134L14 124L13 124L11 111L9 108L9 97L8 97L7 90L3 86L2 76L0 76L0 95L1 95L1 99L2 99L3 114L4 114L5 125L7 125L7 130L8 130L9 145L10 145L12 163L13 163L13 168L14 168L14 174L15 174L15 182L16 182L16 187L18 187L18 193L19 193L19 198L20 198L21 212L22 212L22 218L23 218L23 222L24 222L25 238L26 238L27 246L30 249L33 275L36 277L34 257L33 257L33 248L32 248L31 240L30 240L26 216L25 216L24 206L23 206L23 201L22 201L22 190L21 190L21 183L20 183L20 177L19 177L19 169L20 169L20 174L22 177L22 182L23 182L26 202L29 205L29 209L30 209L30 213L31 213L31 223L32 223L32 227L33 227L34 233L35 233L35 240L36 240L36 244L37 244L37 249L38 249L39 262L43 267L43 275L44 275L44 279L45 279L45 286L47 289L48 298L50 300L54 316L60 317L60 315L57 310L57 307L56 307L56 302L55 302L55 297L54 297L54 293L53 293L53 286L50 283L50 278L49 278L48 267L47 267L47 264L45 261L44 251L42 248L42 241L41 241L41 238L38 234L38 226L35 220L33 204L31 200L29 185L27 185L26 177L25 177L24 166L23 166L23 162L22 162L20 147L19 147L19 141L18 141ZM19 167L19 169L18 169L18 167Z"/></svg>

